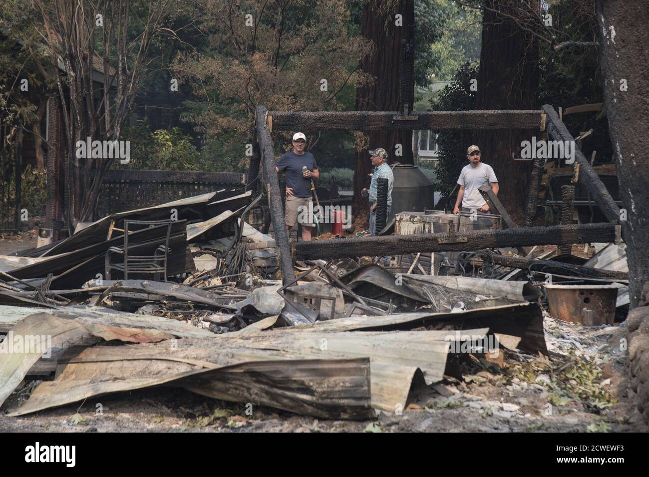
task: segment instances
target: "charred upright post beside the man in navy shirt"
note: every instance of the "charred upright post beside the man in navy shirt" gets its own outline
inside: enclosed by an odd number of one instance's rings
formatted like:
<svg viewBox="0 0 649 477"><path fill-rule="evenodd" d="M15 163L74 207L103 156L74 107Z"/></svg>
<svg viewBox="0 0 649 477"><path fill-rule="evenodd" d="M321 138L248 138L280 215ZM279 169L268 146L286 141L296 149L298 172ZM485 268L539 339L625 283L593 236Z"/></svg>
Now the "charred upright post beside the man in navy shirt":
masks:
<svg viewBox="0 0 649 477"><path fill-rule="evenodd" d="M291 247L289 246L288 234L286 233L286 222L284 221L284 208L282 208L282 193L280 182L275 170L275 152L273 151L273 139L271 132L266 125L267 110L263 106L257 106L255 115L257 141L262 154L262 163L266 184L269 188L268 202L271 209L271 221L275 231L275 242L279 254L280 268L282 269L282 283L295 280L293 271L293 260L291 260Z"/></svg>

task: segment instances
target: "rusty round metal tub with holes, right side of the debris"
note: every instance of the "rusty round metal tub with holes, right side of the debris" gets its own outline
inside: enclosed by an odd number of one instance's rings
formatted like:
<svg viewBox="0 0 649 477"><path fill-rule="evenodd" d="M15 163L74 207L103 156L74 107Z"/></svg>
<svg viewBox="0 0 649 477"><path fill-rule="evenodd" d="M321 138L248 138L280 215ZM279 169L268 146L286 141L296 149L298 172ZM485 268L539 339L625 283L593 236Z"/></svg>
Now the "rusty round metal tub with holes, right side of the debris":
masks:
<svg viewBox="0 0 649 477"><path fill-rule="evenodd" d="M585 326L613 324L615 285L546 285L550 316Z"/></svg>

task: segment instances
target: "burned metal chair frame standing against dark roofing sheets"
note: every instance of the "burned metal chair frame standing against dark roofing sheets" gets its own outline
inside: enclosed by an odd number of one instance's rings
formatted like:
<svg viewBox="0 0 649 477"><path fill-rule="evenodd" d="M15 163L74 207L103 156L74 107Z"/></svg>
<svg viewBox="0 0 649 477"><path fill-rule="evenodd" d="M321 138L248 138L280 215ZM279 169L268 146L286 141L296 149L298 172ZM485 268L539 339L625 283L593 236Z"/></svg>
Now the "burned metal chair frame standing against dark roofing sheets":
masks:
<svg viewBox="0 0 649 477"><path fill-rule="evenodd" d="M123 247L110 247L106 251L105 272L106 280L110 280L110 271L117 270L124 273L124 280L129 279L129 273L137 274L150 274L154 275L154 280L160 281L160 274L162 279L167 281L167 258L169 257L169 237L171 236L171 227L173 226L171 220L157 220L157 221L143 221L143 220L125 220L124 221L124 246ZM154 226L166 225L167 235L165 237L164 245L160 245L153 252L153 255L129 255L129 225L145 225L149 228ZM133 231L132 231L133 232ZM111 254L121 254L124 258L123 263L111 263Z"/></svg>

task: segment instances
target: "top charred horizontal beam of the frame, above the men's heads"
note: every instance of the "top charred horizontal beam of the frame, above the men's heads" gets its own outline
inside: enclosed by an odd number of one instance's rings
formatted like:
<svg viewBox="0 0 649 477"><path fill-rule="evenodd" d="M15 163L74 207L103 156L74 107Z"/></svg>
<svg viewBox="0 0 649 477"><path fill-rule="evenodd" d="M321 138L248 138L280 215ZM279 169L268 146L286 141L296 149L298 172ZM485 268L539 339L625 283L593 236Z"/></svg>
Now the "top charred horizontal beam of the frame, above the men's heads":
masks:
<svg viewBox="0 0 649 477"><path fill-rule="evenodd" d="M541 127L539 110L413 111L408 121L397 111L271 111L275 130L345 129L533 129Z"/></svg>

